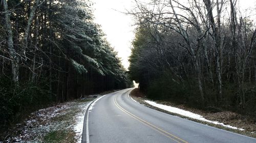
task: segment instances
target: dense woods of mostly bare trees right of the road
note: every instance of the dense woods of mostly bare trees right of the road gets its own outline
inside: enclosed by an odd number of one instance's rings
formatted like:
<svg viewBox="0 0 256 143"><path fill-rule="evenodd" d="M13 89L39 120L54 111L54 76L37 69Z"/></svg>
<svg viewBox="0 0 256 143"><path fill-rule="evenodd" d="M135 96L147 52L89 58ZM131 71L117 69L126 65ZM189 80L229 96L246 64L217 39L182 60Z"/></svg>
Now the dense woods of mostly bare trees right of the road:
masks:
<svg viewBox="0 0 256 143"><path fill-rule="evenodd" d="M256 117L256 25L238 1L136 4L129 70L148 97Z"/></svg>

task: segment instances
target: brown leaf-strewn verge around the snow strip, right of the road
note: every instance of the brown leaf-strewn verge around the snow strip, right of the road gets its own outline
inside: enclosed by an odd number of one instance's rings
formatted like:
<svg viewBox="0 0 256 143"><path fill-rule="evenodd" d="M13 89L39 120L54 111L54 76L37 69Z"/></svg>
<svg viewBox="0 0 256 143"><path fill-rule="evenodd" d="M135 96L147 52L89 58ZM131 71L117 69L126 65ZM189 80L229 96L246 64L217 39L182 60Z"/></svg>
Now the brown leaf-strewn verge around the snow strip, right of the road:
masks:
<svg viewBox="0 0 256 143"><path fill-rule="evenodd" d="M184 116L178 115L176 113L169 112L169 111L157 108L155 106L152 106L152 105L150 105L150 104L148 104L144 101L144 100L149 100L149 99L147 99L146 96L139 91L139 89L134 89L131 92L130 95L134 100L136 100L140 104L143 104L147 107L150 107L150 108L168 113L170 115L178 116L178 117L188 119L188 120L191 120L191 121L195 121L195 122L198 122L198 123L206 124L206 125L209 125L209 126L217 127L217 128L220 128L220 129L224 129L224 130L228 130L228 131L231 131L231 132L235 132L235 133L239 133L239 134L243 134L243 135L246 135L246 136L256 138L256 123L249 116L240 115L238 113L231 112L231 111L210 112L210 111L206 111L206 110L200 110L200 109L196 109L196 108L187 107L183 104L175 104L175 103L167 102L167 101L155 101L158 104L177 107L177 108L180 108L180 109L183 109L183 110L187 110L187 111L190 111L190 112L193 112L193 113L197 113L198 115L203 116L207 120L218 121L220 123L224 123L224 124L228 124L228 125L231 125L231 126L234 126L234 127L245 129L244 131L235 130L235 129L226 128L226 127L223 127L223 126L220 126L220 125L210 124L210 123L207 123L207 122L202 122L202 121L199 121L199 120L184 117Z"/></svg>

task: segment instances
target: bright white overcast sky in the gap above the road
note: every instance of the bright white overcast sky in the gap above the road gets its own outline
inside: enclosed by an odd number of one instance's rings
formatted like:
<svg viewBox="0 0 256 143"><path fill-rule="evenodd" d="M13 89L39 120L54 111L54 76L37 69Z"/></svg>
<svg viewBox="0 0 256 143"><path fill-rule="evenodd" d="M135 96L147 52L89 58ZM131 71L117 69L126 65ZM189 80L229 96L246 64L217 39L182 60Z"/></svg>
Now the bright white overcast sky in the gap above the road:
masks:
<svg viewBox="0 0 256 143"><path fill-rule="evenodd" d="M133 9L135 5L134 1L94 0L93 2L95 22L102 26L102 30L106 34L106 39L118 52L123 66L127 69L129 67L128 57L131 54L131 41L134 38L135 26L132 26L134 23L133 17L121 12L126 12L126 9ZM252 13L255 14L255 0L240 0L240 6L243 10L249 7L254 8L254 12ZM247 13L247 16L252 13ZM255 23L256 16L254 15L252 17L254 17Z"/></svg>

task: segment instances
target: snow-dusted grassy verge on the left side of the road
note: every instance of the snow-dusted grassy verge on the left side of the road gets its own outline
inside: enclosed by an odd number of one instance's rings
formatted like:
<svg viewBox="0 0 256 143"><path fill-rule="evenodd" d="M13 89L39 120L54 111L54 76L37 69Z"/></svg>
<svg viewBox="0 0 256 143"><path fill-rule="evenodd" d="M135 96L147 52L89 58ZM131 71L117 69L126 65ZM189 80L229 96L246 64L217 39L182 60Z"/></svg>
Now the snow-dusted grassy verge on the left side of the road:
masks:
<svg viewBox="0 0 256 143"><path fill-rule="evenodd" d="M10 129L4 142L81 142L84 113L97 96L60 103L31 113Z"/></svg>

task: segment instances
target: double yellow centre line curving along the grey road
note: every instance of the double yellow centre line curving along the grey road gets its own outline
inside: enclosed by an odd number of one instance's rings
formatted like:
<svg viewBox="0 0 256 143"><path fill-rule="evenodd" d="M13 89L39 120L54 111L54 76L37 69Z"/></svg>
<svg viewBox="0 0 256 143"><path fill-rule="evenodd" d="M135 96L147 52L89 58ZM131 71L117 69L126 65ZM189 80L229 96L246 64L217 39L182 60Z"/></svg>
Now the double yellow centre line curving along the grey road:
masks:
<svg viewBox="0 0 256 143"><path fill-rule="evenodd" d="M114 103L115 103L115 105L116 105L120 110L122 110L123 112L125 112L127 115L129 115L129 116L131 116L132 118L136 119L137 121L143 123L144 125L146 125L146 126L152 128L153 130L155 130L155 131L157 131L157 132L159 132L159 133L165 135L166 137L168 137L168 138L170 138L170 139L173 139L173 140L176 141L176 142L188 143L187 141L185 141L185 140L183 140L183 139L181 139L181 138L179 138L179 137L177 137L177 136L175 136L175 135L173 135L173 134L170 134L170 133L164 131L163 129L160 129L159 127L156 127L155 125L152 125L151 123L148 123L148 122L146 122L145 120L143 120L143 119L141 119L141 118L139 118L139 117L133 115L131 112L125 110L124 108L122 108L122 107L117 103L116 97L117 97L117 96L115 96L115 98L114 98Z"/></svg>

